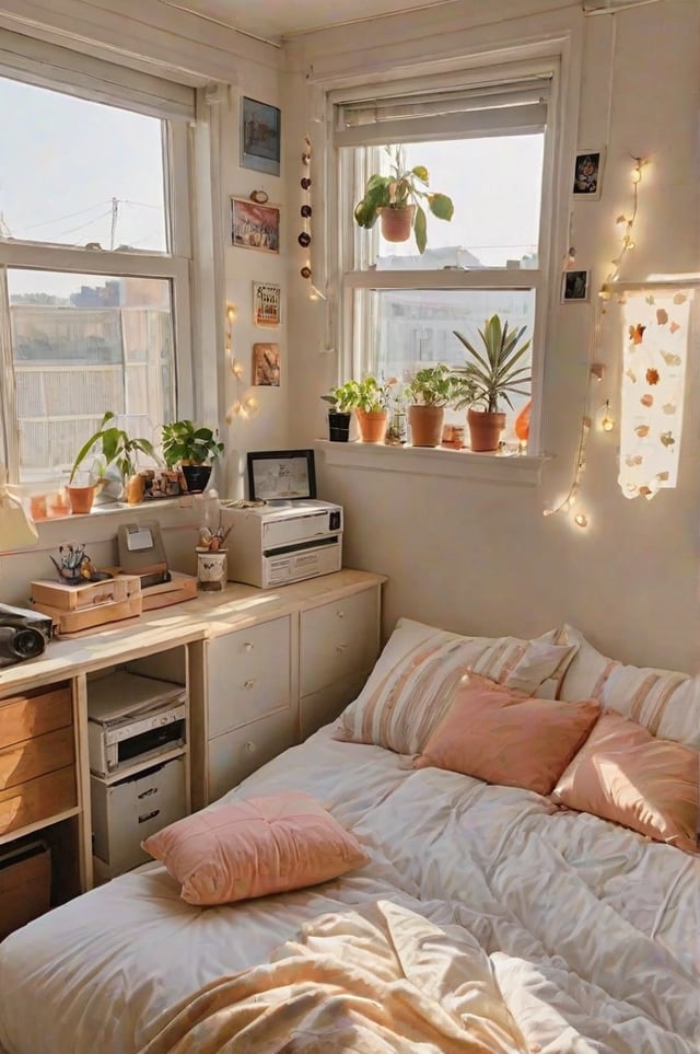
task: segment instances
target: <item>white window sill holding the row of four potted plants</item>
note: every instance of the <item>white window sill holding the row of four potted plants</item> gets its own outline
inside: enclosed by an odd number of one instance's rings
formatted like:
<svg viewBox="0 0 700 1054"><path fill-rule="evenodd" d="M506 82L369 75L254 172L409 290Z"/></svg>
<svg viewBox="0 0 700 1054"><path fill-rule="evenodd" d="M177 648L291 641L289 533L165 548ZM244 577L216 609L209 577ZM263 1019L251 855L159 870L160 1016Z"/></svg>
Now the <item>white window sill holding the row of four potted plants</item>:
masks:
<svg viewBox="0 0 700 1054"><path fill-rule="evenodd" d="M536 487L547 456L498 453L478 454L470 450L433 447L389 447L383 443L337 443L317 439L315 447L328 465L373 468L377 472L406 472L410 475L448 476L487 483Z"/></svg>

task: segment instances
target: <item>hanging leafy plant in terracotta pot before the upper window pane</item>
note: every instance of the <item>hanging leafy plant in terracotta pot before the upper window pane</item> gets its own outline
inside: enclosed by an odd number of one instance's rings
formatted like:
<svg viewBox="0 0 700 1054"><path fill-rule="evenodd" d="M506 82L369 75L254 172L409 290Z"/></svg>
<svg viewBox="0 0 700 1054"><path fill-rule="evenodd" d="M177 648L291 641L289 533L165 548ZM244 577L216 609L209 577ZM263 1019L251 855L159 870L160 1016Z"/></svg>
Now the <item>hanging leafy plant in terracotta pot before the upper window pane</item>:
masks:
<svg viewBox="0 0 700 1054"><path fill-rule="evenodd" d="M406 167L402 147L385 147L389 155L389 174L370 176L364 197L354 207L360 227L372 228L381 217L382 234L387 242L406 242L411 230L419 253L428 241L428 220L423 202L440 220L451 220L455 210L446 194L429 190L430 176L424 165Z"/></svg>

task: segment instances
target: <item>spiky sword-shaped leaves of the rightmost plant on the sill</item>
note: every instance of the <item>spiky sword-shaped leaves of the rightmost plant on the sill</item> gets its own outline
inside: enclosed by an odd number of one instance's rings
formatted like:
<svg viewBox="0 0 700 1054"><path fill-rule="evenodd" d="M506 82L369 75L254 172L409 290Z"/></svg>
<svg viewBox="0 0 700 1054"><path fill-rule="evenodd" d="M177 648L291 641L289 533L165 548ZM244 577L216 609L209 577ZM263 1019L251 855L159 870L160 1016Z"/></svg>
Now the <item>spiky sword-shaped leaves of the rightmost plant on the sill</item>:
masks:
<svg viewBox="0 0 700 1054"><path fill-rule="evenodd" d="M526 328L510 329L508 322L502 323L498 314L491 315L483 329L479 329L483 344L480 351L464 334L453 331L471 357L465 366L454 369L457 378L472 386L472 394L465 394L455 404L458 408L469 403L483 403L489 413L498 413L501 401L513 409L511 395L530 394L530 369L517 364L532 343L528 339L521 344Z"/></svg>

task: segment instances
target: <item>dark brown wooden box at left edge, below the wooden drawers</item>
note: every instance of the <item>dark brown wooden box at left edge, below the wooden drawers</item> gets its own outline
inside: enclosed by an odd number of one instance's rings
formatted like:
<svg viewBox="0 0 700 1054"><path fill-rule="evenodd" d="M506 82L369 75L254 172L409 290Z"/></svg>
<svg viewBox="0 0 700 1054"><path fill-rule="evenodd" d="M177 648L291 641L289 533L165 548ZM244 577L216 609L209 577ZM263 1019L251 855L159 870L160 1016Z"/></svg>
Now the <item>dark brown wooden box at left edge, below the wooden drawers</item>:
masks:
<svg viewBox="0 0 700 1054"><path fill-rule="evenodd" d="M0 850L0 940L47 912L51 904L51 853L45 842Z"/></svg>

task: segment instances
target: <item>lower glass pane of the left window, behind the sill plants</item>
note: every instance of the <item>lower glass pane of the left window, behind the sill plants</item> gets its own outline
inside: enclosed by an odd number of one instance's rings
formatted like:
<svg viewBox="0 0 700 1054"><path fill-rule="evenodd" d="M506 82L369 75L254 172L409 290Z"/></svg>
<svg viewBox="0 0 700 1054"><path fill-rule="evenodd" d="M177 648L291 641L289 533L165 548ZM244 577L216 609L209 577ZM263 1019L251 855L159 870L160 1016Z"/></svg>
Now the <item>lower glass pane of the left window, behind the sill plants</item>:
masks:
<svg viewBox="0 0 700 1054"><path fill-rule="evenodd" d="M8 271L22 480L71 465L106 410L160 441L175 410L171 282Z"/></svg>

